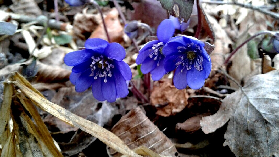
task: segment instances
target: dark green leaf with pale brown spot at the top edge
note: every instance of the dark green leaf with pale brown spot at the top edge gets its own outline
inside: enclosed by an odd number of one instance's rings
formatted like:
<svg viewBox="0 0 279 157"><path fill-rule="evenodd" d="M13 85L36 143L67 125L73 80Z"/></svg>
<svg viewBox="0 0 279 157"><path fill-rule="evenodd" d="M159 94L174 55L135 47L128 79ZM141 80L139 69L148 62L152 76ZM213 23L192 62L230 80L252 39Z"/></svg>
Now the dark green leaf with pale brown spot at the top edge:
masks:
<svg viewBox="0 0 279 157"><path fill-rule="evenodd" d="M164 9L169 11L170 15L188 21L192 13L194 0L160 0L160 3Z"/></svg>

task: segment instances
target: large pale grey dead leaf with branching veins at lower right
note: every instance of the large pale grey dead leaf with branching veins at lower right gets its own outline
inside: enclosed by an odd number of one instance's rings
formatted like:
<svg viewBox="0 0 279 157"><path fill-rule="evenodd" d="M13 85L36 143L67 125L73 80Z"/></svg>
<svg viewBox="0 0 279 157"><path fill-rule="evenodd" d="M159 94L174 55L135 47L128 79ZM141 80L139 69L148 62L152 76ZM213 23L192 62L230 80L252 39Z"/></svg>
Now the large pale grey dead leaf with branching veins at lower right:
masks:
<svg viewBox="0 0 279 157"><path fill-rule="evenodd" d="M246 86L227 96L214 115L203 117L206 134L229 120L224 135L236 156L279 155L279 70L253 76Z"/></svg>

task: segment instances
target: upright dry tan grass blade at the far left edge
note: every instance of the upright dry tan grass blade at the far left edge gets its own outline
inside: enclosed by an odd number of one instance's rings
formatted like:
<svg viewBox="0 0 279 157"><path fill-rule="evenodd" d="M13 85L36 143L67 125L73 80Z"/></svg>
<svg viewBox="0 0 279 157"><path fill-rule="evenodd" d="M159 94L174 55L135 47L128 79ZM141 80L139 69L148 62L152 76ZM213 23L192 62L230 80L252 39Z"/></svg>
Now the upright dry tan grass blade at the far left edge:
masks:
<svg viewBox="0 0 279 157"><path fill-rule="evenodd" d="M10 109L11 109L11 97L13 94L13 87L11 84L5 83L4 97L0 110L0 144L4 146L8 140L10 129Z"/></svg>

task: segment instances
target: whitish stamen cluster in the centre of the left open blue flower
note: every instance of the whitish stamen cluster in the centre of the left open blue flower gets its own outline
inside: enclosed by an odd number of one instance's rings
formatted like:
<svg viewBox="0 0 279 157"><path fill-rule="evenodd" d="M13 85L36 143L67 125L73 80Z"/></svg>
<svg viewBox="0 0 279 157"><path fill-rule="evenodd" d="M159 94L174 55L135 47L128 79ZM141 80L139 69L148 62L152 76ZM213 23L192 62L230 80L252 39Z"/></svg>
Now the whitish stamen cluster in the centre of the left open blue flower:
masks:
<svg viewBox="0 0 279 157"><path fill-rule="evenodd" d="M112 71L111 68L114 68L114 65L112 65L109 60L113 61L113 59L107 57L104 58L104 56L100 57L91 57L92 63L90 65L91 68L91 74L89 76L95 76L94 79L105 78L104 83L107 82L107 76L112 77Z"/></svg>

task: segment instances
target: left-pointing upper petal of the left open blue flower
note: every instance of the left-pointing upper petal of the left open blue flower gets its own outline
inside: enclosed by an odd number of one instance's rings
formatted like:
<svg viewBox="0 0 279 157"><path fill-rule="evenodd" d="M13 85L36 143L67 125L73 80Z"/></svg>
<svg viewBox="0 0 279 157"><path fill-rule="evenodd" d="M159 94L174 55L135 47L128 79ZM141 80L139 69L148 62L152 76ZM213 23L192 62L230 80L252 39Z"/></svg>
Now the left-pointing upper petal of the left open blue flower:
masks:
<svg viewBox="0 0 279 157"><path fill-rule="evenodd" d="M64 63L67 66L76 66L91 59L94 56L94 52L90 49L83 49L78 51L69 52L64 57Z"/></svg>

